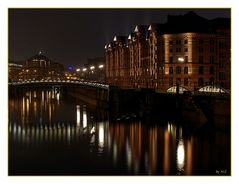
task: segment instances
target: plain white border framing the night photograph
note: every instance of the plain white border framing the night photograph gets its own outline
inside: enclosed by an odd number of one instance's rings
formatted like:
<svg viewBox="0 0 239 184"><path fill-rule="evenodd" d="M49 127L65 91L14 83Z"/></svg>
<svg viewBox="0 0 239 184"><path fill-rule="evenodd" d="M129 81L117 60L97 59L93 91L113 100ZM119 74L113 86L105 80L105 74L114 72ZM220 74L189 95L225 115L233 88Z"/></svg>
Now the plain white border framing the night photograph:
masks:
<svg viewBox="0 0 239 184"><path fill-rule="evenodd" d="M0 76L0 183L105 183L105 182L172 182L172 183L236 183L238 177L238 0L87 0L81 2L80 0L1 0L0 1L0 62L1 62L1 76ZM8 177L8 92L7 92L7 63L8 63L8 8L231 8L232 12L232 177ZM238 181L237 181L238 183Z"/></svg>

